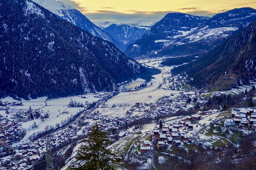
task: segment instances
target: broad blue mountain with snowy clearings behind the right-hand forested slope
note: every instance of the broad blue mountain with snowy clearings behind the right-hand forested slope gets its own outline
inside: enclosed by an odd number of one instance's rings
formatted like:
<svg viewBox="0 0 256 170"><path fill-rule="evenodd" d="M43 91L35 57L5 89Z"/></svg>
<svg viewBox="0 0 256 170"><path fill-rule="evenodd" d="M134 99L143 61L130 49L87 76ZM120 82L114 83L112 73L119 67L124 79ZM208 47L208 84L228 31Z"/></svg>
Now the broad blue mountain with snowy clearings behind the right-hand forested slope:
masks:
<svg viewBox="0 0 256 170"><path fill-rule="evenodd" d="M128 46L131 57L204 54L243 29L256 17L252 8L233 9L212 18L169 13L148 33Z"/></svg>

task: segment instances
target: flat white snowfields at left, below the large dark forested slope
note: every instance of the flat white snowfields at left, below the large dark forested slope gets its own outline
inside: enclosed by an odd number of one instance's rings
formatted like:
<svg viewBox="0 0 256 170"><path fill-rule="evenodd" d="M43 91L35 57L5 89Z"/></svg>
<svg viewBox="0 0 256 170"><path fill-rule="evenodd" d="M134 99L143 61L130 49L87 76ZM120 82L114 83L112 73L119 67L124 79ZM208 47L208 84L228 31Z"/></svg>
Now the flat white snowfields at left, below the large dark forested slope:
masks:
<svg viewBox="0 0 256 170"><path fill-rule="evenodd" d="M41 119L34 119L28 122L21 122L22 126L24 129L27 130L26 136L23 137L23 140L17 143L13 143L12 147L22 144L26 142L29 136L33 135L33 133L43 131L45 130L46 125L51 125L55 126L56 124L60 124L61 126L61 121L67 119L71 115L75 115L77 112L80 110L83 110L83 108L75 107L75 108L69 108L67 105L70 102L70 99L76 102L82 102L85 104L85 101L88 101L92 103L93 101L98 101L99 98L95 98L95 94L88 94L88 95L83 95L86 98L81 98L80 96L72 96L72 97L65 97L65 98L59 98L59 99L53 99L53 100L46 100L46 97L41 97L37 99L31 99L30 101L26 101L22 99L22 103L24 106L12 106L10 109L29 109L29 106L31 106L31 109L40 109L41 115L44 115L45 113L49 113L49 118L44 119L45 121L43 122ZM12 99L11 97L6 97L1 99L3 102L5 101L10 101L10 102L18 102L17 100ZM46 105L47 104L47 105ZM65 112L65 113L63 113ZM0 111L0 114L2 116L6 116L5 111ZM13 119L10 118L11 114L6 117L10 121ZM32 129L30 126L36 122L38 125L38 128Z"/></svg>

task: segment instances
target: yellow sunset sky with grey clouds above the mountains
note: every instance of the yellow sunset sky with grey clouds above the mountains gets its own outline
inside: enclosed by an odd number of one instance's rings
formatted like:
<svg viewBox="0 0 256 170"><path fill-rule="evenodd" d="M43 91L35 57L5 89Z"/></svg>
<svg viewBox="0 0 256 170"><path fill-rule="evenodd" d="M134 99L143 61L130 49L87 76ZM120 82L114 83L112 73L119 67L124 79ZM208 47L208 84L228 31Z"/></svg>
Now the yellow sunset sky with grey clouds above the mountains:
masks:
<svg viewBox="0 0 256 170"><path fill-rule="evenodd" d="M161 20L170 12L212 17L234 8L256 9L256 0L61 0L92 22Z"/></svg>

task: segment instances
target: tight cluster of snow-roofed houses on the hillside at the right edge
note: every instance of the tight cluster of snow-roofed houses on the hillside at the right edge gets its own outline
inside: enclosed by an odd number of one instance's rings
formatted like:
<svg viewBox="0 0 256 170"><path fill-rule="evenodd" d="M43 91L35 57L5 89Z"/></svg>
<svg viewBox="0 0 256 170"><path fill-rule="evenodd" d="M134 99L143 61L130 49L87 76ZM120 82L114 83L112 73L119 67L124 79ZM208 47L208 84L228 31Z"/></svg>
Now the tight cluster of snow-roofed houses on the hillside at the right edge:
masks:
<svg viewBox="0 0 256 170"><path fill-rule="evenodd" d="M226 120L226 126L251 126L256 131L256 108L235 108L231 111L232 118Z"/></svg>

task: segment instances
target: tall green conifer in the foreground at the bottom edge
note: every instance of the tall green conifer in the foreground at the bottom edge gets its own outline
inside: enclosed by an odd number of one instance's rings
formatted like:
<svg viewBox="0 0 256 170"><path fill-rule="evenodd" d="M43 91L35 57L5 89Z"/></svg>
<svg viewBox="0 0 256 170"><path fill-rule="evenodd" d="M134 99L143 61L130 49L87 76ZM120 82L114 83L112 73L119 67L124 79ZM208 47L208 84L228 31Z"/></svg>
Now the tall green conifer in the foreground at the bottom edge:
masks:
<svg viewBox="0 0 256 170"><path fill-rule="evenodd" d="M79 167L83 170L114 170L109 162L121 161L121 157L106 149L111 143L107 132L100 131L96 124L92 127L91 132L83 140L76 158L85 161L85 164Z"/></svg>

